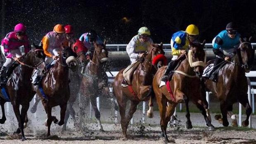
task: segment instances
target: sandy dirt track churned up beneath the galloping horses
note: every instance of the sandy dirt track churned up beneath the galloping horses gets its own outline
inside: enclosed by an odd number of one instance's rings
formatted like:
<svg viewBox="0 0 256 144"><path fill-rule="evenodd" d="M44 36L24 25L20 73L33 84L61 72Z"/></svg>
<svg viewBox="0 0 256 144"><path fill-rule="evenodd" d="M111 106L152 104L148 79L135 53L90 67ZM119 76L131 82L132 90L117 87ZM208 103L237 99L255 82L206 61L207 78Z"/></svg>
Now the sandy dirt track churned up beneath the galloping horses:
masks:
<svg viewBox="0 0 256 144"><path fill-rule="evenodd" d="M59 107L55 110L55 115L59 118ZM101 109L101 120L105 132L97 131L95 120L88 120L84 123L87 130L80 131L73 126L73 120L69 120L68 129L62 132L62 127L52 124L51 137L46 139L47 127L43 125L46 118L41 104L38 112L32 114L28 111L28 128L25 129L26 142L21 142L20 136L12 135L17 128L17 120L11 115L12 110L7 114L7 121L0 125L0 143L1 144L156 144L164 143L160 137L159 113L154 112L154 118L146 118L146 124L140 123L142 111L138 110L134 115L134 124L128 128L129 139L123 139L121 135L121 126L114 123L114 112L110 109ZM88 113L87 113L88 115ZM256 144L256 116L252 116L254 129L223 127L213 119L212 124L216 127L215 131L209 132L205 127L204 118L200 113L191 113L191 121L194 128L186 130L185 113L177 113L180 120L176 127L168 127L167 134L171 142L176 144ZM89 117L89 115L88 115ZM119 118L120 119L120 118ZM243 116L244 120L244 116ZM230 120L229 120L230 121Z"/></svg>

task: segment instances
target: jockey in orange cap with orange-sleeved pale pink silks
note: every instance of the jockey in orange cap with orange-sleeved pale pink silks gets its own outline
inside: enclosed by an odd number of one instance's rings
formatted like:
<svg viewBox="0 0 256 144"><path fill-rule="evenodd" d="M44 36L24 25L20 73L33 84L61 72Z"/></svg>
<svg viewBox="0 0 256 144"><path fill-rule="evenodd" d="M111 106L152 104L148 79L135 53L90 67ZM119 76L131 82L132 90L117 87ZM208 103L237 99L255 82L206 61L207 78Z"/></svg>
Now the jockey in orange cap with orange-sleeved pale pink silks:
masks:
<svg viewBox="0 0 256 144"><path fill-rule="evenodd" d="M64 37L65 29L61 24L54 26L53 31L47 33L43 39L43 50L45 55L51 57L52 59L57 59L59 55L58 52L61 51L62 44L68 46L68 42ZM52 64L55 64L56 61L53 61Z"/></svg>

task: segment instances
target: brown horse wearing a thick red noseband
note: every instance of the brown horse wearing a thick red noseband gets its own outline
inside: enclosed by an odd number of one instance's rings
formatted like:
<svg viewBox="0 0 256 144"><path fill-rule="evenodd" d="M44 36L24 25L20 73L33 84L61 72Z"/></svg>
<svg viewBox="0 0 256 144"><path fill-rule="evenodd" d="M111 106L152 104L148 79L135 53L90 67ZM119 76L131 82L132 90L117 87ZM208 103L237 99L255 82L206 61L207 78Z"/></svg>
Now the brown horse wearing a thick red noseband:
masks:
<svg viewBox="0 0 256 144"><path fill-rule="evenodd" d="M145 52L144 57L141 58L142 62L137 66L136 70L133 72L132 85L128 87L122 87L121 81L123 80L123 71L119 71L114 79L113 92L119 104L119 112L121 116L121 127L123 131L123 136L127 138L127 127L133 113L137 109L139 102L148 101L149 106L153 107L152 98L154 93L152 91L152 79L154 73L156 73L158 67L152 64L153 59L159 55L164 54L164 50L161 45L151 45L148 47L148 51ZM129 88L130 87L130 88ZM129 90L130 89L130 90ZM130 110L128 116L126 116L126 103L130 100ZM152 111L150 111L152 112ZM153 116L152 113L148 113L149 116Z"/></svg>

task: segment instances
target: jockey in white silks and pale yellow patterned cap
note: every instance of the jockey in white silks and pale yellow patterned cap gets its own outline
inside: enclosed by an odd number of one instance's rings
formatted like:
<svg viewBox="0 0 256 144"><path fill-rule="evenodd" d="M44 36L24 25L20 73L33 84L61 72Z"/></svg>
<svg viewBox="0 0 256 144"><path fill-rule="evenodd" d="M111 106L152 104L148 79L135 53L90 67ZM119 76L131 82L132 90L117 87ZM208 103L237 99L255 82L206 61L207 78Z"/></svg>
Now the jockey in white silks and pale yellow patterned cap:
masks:
<svg viewBox="0 0 256 144"><path fill-rule="evenodd" d="M147 27L141 27L138 34L126 46L126 52L130 57L131 64L142 57L143 53L147 51L147 47L151 44L153 44L153 40L150 38L149 29Z"/></svg>

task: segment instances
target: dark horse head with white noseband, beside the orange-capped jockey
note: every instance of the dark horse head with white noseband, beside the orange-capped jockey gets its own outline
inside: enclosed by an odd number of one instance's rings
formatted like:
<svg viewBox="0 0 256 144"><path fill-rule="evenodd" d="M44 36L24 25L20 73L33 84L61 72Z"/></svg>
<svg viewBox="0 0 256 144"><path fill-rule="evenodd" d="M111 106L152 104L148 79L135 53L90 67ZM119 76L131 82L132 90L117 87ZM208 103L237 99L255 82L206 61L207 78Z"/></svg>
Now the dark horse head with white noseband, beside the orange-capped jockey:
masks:
<svg viewBox="0 0 256 144"><path fill-rule="evenodd" d="M59 63L62 66L68 66L72 71L76 71L78 68L77 55L70 47L62 45L62 51L59 54Z"/></svg>

